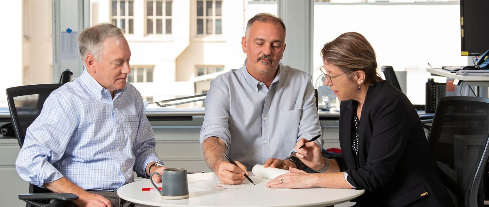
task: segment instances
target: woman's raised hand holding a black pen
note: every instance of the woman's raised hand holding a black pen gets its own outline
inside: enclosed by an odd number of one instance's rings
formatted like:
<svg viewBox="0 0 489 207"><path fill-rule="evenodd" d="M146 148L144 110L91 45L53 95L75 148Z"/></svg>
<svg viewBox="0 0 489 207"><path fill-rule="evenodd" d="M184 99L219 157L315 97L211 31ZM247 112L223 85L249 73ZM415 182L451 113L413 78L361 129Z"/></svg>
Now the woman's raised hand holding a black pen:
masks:
<svg viewBox="0 0 489 207"><path fill-rule="evenodd" d="M312 169L321 169L325 165L325 160L321 154L322 148L314 142L308 142L304 138L301 138L295 145L295 156L299 158L304 165L311 167ZM302 145L306 145L299 149Z"/></svg>

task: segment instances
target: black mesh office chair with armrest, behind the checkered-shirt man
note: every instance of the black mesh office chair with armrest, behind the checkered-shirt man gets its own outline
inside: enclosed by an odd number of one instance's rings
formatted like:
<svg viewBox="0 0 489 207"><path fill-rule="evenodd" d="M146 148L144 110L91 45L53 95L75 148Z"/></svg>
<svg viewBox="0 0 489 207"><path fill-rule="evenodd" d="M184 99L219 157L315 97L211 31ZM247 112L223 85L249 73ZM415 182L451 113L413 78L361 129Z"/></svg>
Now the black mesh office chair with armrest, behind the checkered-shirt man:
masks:
<svg viewBox="0 0 489 207"><path fill-rule="evenodd" d="M25 85L7 88L7 101L14 124L17 140L22 148L25 132L32 122L39 116L46 98L52 91L63 84ZM27 203L26 207L54 207L62 206L66 201L78 199L72 193L53 193L48 189L29 184L29 193L19 195L19 199ZM50 200L56 200L49 203Z"/></svg>

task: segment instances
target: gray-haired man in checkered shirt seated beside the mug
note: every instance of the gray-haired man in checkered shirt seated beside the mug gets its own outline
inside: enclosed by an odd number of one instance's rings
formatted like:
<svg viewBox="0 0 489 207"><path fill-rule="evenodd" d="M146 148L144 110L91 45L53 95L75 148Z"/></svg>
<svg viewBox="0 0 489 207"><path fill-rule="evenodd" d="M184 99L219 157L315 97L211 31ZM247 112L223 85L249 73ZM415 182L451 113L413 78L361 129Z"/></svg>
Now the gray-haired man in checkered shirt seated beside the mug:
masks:
<svg viewBox="0 0 489 207"><path fill-rule="evenodd" d="M108 23L82 31L78 45L86 70L46 99L27 128L17 172L33 185L78 195L78 206L127 206L115 190L134 181L133 171L148 178L166 168L141 94L126 83L131 50Z"/></svg>

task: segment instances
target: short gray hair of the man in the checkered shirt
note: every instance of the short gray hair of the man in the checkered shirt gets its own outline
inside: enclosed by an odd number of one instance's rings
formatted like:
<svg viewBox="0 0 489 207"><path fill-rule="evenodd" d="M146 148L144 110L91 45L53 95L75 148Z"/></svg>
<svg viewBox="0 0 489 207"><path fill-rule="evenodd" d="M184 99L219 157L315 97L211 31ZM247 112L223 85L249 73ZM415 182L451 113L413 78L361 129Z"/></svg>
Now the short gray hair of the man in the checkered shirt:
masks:
<svg viewBox="0 0 489 207"><path fill-rule="evenodd" d="M124 39L124 31L110 23L100 23L80 32L77 43L80 48L80 58L85 67L87 67L85 63L87 55L93 55L95 60L101 61L102 44L109 38L116 38L118 45Z"/></svg>

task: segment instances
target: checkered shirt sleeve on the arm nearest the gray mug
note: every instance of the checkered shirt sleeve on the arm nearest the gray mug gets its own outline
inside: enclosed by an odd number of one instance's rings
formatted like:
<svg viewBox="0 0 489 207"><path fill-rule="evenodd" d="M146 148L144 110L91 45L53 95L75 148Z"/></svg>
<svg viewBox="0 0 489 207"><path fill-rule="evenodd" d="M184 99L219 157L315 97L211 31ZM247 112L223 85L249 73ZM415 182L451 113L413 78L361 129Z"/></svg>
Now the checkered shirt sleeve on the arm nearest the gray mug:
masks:
<svg viewBox="0 0 489 207"><path fill-rule="evenodd" d="M139 126L137 128L136 138L134 139L133 153L136 157L133 170L138 177L149 178L146 175L146 166L151 162L163 163L156 154L156 140L153 128L143 111L143 105L140 105Z"/></svg>

